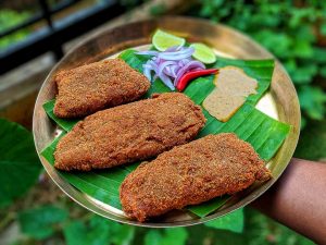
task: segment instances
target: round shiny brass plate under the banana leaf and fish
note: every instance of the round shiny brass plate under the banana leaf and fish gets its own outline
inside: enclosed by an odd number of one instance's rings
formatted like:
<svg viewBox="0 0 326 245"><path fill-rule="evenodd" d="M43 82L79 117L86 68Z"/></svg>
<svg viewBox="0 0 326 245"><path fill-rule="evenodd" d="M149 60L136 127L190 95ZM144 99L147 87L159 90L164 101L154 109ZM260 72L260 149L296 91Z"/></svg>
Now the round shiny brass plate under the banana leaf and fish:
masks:
<svg viewBox="0 0 326 245"><path fill-rule="evenodd" d="M106 29L96 34L68 52L46 78L35 105L33 119L33 133L36 149L48 174L55 184L72 199L79 205L105 218L142 226L181 226L202 223L235 209L243 207L262 195L280 176L289 163L296 149L300 132L300 107L296 89L285 69L277 61L273 74L269 91L260 100L256 106L261 111L278 119L281 122L291 124L293 127L276 156L267 163L273 179L263 185L253 185L241 192L227 201L220 210L205 217L198 218L186 211L173 211L156 219L154 222L139 223L127 219L121 210L96 200L79 192L64 179L58 171L40 156L40 151L48 146L55 137L57 127L47 117L42 105L53 99L57 93L53 75L65 69L108 59L116 56L126 48L143 49L151 41L151 35L156 28L162 28L180 36L189 41L203 41L215 48L220 56L237 59L266 59L273 56L254 42L249 37L229 27L213 24L208 21L189 17L160 17L137 23L130 23L113 29Z"/></svg>

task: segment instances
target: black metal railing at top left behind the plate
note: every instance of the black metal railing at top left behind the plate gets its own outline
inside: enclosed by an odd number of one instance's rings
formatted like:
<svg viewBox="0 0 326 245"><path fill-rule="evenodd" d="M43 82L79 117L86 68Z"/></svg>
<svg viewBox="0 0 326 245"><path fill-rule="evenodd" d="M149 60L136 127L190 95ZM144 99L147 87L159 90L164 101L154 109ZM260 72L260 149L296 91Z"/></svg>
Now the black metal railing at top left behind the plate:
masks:
<svg viewBox="0 0 326 245"><path fill-rule="evenodd" d="M0 74L3 74L45 52L53 52L55 59L63 56L62 45L96 26L124 13L126 8L118 0L103 0L63 20L53 22L53 15L80 0L65 0L50 8L47 0L38 0L41 12L24 23L0 33L0 38L11 35L40 21L47 26L30 34L25 40L0 51Z"/></svg>

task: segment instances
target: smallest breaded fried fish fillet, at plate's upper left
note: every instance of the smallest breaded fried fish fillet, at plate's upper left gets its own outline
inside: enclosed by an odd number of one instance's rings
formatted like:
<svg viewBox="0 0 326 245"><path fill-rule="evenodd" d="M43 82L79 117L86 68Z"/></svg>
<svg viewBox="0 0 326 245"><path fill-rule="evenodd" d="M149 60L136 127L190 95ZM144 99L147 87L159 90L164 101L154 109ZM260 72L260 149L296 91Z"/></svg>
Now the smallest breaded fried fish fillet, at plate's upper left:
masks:
<svg viewBox="0 0 326 245"><path fill-rule="evenodd" d="M122 59L86 64L55 76L54 114L78 118L140 98L150 88L145 75Z"/></svg>

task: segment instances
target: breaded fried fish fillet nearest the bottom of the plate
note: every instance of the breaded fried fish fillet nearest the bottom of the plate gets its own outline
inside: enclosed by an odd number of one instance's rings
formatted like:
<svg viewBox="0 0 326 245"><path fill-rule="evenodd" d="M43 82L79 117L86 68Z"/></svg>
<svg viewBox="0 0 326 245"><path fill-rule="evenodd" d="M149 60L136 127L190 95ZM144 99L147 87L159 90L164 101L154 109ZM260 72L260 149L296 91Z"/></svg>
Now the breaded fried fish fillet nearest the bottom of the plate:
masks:
<svg viewBox="0 0 326 245"><path fill-rule="evenodd" d="M122 183L120 198L125 213L143 222L269 177L250 144L223 133L174 147L141 163Z"/></svg>

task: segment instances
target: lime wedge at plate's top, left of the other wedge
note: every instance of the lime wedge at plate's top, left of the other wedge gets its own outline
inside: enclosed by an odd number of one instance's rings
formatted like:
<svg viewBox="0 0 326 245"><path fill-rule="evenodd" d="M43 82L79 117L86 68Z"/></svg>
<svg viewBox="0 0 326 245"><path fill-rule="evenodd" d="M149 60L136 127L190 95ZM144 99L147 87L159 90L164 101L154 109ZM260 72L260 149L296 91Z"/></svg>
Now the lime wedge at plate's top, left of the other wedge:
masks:
<svg viewBox="0 0 326 245"><path fill-rule="evenodd" d="M159 51L165 51L173 46L184 46L186 39L158 29L153 35L152 44Z"/></svg>

